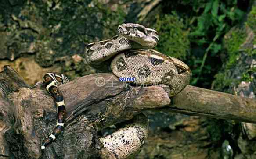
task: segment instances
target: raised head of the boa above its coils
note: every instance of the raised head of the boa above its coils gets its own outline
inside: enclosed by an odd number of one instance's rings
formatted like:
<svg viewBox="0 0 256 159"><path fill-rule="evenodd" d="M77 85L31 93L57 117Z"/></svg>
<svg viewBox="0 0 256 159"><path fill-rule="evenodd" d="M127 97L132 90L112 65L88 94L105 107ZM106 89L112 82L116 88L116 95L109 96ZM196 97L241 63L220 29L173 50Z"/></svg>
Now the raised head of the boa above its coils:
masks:
<svg viewBox="0 0 256 159"><path fill-rule="evenodd" d="M143 25L127 23L119 25L117 31L129 40L137 42L145 49L151 49L159 42L157 31Z"/></svg>

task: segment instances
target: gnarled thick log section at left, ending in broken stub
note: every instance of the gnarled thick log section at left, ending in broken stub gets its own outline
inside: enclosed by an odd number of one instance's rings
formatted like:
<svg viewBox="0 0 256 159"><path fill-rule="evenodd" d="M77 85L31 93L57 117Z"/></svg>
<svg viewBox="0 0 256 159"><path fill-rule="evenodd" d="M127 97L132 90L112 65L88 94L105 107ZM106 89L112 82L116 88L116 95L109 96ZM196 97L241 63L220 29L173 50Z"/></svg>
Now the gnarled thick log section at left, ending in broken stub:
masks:
<svg viewBox="0 0 256 159"><path fill-rule="evenodd" d="M95 82L99 77L111 81L106 81L105 86L99 87ZM8 84L15 83L8 77L5 81L9 81ZM60 137L51 144L44 158L104 158L108 151L99 143L98 130L129 120L142 109L162 107L170 102L168 94L161 87L130 88L117 81L112 74L93 74L78 78L68 85L61 85L60 89L68 112L63 133L65 139ZM155 96L155 99L148 98L151 96ZM1 123L4 123L0 129L0 139L4 141L2 156L39 158L41 141L51 133L56 124L54 100L42 85L33 89L19 88L6 97L10 104L6 105L7 99L2 99L0 109L3 117ZM113 157L109 154L106 156Z"/></svg>

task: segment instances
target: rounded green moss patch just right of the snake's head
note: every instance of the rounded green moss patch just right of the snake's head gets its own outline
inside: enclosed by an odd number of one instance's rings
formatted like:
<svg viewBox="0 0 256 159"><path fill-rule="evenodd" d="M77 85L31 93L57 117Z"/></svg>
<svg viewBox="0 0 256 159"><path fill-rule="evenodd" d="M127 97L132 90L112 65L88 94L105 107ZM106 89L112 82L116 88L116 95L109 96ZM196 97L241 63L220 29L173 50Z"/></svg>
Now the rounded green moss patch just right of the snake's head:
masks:
<svg viewBox="0 0 256 159"><path fill-rule="evenodd" d="M155 29L159 32L159 44L155 47L166 55L185 59L190 48L188 31L177 15L165 14L156 17Z"/></svg>

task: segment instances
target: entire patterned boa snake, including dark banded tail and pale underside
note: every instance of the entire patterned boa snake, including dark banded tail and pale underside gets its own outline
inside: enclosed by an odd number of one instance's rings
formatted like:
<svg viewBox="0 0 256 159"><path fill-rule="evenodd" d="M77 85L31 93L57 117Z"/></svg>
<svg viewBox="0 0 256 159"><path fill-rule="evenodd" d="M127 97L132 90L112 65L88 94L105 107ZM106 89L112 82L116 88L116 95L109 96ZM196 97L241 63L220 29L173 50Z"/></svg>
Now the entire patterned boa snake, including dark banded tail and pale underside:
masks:
<svg viewBox="0 0 256 159"><path fill-rule="evenodd" d="M117 77L133 77L133 83L139 85L169 85L170 96L189 84L191 71L186 64L152 49L159 42L157 31L133 23L119 25L117 31L119 35L111 39L86 46L85 59L90 66L103 72L112 71ZM58 121L53 133L43 141L42 150L63 131L65 102L58 85L67 82L68 78L59 73L47 73L43 77L45 88L57 103ZM147 136L148 121L140 114L130 124L100 141L116 158L124 159L137 154Z"/></svg>

